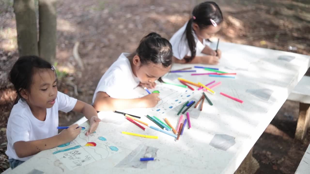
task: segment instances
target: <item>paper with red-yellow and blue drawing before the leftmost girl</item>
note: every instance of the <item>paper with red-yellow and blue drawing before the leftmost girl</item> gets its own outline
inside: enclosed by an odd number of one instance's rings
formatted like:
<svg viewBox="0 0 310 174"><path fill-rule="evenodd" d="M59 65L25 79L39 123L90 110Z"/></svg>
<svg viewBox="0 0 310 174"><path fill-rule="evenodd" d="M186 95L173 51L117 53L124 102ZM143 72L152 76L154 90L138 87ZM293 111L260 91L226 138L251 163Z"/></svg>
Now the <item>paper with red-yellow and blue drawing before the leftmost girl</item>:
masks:
<svg viewBox="0 0 310 174"><path fill-rule="evenodd" d="M100 122L99 124L102 123ZM88 137L85 133L89 125L86 123L83 126L85 129L81 131L75 140L50 149L52 154L69 170L105 159L121 151L107 137L102 136L103 133L99 129L100 125Z"/></svg>

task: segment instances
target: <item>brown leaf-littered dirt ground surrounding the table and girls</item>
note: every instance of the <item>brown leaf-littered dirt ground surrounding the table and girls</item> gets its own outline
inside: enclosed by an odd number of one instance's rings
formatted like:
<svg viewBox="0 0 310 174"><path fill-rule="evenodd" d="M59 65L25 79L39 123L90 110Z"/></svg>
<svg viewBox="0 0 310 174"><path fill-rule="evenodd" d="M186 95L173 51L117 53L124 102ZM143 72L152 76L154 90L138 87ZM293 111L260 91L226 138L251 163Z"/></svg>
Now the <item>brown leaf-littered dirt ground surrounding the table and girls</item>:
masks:
<svg viewBox="0 0 310 174"><path fill-rule="evenodd" d="M57 4L57 69L66 71L59 90L91 103L100 77L122 52L135 50L151 31L170 38L202 1L186 0L67 0ZM224 13L222 41L309 55L309 0L217 0ZM18 58L13 0L0 0L0 172L8 160L6 124L16 94L7 72ZM84 69L73 56L73 46ZM290 49L291 47L291 49ZM308 71L306 75L310 75ZM76 89L74 90L74 87ZM257 174L294 173L310 142L294 140L299 103L286 101L254 146ZM60 113L60 125L81 115Z"/></svg>

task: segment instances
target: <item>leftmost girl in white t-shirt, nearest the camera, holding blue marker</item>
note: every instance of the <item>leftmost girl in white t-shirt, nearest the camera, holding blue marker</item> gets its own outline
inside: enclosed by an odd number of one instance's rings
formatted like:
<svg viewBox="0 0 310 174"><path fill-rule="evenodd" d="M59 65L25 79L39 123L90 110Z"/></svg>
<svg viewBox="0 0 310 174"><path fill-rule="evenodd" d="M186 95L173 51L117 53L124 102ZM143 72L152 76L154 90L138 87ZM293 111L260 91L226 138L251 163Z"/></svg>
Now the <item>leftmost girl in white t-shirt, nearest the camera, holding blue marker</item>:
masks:
<svg viewBox="0 0 310 174"><path fill-rule="evenodd" d="M91 125L86 135L94 132L101 121L91 105L57 91L55 67L37 56L20 57L9 79L20 98L7 123L6 154L11 168L80 134L82 128L78 124L58 134L58 111L83 113Z"/></svg>

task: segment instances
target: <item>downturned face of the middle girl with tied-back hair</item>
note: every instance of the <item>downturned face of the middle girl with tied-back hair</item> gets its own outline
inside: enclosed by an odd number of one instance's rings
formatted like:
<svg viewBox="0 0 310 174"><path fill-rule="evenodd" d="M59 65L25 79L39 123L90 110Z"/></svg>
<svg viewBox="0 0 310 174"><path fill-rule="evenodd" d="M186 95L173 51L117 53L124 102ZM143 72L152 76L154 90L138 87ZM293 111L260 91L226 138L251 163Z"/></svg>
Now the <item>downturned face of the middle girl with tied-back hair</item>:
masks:
<svg viewBox="0 0 310 174"><path fill-rule="evenodd" d="M152 62L142 65L138 55L135 55L132 61L133 73L138 77L141 83L145 84L153 83L155 80L158 80L169 72L171 68L171 65L169 67L164 67L161 63L155 64Z"/></svg>

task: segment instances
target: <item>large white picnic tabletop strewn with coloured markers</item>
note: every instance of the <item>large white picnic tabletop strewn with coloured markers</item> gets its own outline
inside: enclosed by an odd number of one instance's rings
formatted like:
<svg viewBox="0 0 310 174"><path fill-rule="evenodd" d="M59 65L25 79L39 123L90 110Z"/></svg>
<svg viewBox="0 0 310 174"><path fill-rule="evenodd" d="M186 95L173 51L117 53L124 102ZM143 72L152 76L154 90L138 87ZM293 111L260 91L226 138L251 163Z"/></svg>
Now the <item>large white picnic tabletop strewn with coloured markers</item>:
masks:
<svg viewBox="0 0 310 174"><path fill-rule="evenodd" d="M215 45L216 43L212 47ZM191 73L169 73L166 76L178 84L178 76L195 83L207 84L213 80L222 82L214 88L216 94L207 93L213 106L205 101L199 117L191 118L192 129L184 130L180 141L176 142L173 137L150 128L143 131L129 121L122 122L119 119L123 118L119 114L101 112L101 118L119 121L120 124L112 124L103 119L100 126L106 130L105 137L119 147L121 152L69 170L50 150L45 150L16 167L11 173L28 173L34 169L58 174L234 173L309 68L310 56L225 42L219 43L219 49L223 54L216 66L174 64L172 70L194 66L216 67L220 71L237 73L235 79L191 76ZM197 70L197 73L207 72L204 69L192 69ZM197 90L197 87L194 88ZM220 92L244 102L241 104L226 98L220 95ZM200 96L195 96L196 101ZM147 109L139 111L132 110L131 114L143 117L147 113ZM175 114L176 112L161 118L167 117L171 124L176 125L179 117ZM149 121L145 117L143 119ZM121 131L155 135L159 139L124 135ZM228 140L227 137L231 139ZM136 161L135 165L123 164L124 159L133 155L134 150L143 149L142 146L157 149L155 161L149 161L146 165L139 161ZM132 157L131 160L136 158ZM127 163L132 163L131 160Z"/></svg>

